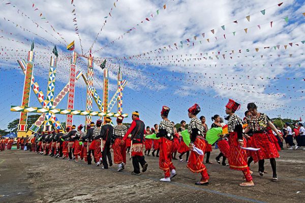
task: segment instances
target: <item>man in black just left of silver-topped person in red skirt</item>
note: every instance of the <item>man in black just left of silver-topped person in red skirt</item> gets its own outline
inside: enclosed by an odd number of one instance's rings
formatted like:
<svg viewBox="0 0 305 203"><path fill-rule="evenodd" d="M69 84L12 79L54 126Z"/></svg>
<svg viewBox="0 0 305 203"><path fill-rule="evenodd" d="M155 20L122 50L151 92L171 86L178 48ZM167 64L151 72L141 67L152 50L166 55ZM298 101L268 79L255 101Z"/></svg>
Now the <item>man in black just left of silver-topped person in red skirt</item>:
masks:
<svg viewBox="0 0 305 203"><path fill-rule="evenodd" d="M93 150L90 149L90 145L93 141L93 131L95 129L94 122L91 122L90 125L87 125L86 136L83 138L84 147L83 147L83 156L85 158L85 162L90 165L92 162L91 154L94 154Z"/></svg>

